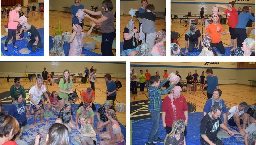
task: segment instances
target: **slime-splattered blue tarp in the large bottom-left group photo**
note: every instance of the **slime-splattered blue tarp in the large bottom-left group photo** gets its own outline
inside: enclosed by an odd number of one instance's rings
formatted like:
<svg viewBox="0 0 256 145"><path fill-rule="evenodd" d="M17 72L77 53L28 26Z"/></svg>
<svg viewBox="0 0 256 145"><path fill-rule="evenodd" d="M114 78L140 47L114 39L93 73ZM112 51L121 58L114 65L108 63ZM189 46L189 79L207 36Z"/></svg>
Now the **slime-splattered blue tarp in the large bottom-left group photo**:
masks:
<svg viewBox="0 0 256 145"><path fill-rule="evenodd" d="M96 111L98 110L98 108L101 106L101 104L95 104L96 107ZM4 112L5 114L8 112L10 105L2 105L2 112ZM29 107L29 105L27 105L27 107ZM45 107L47 107L47 105L45 105ZM73 111L73 120L75 121L75 116L76 116L76 111L77 111L77 107L78 104L71 104L71 109ZM58 116L57 113L55 113L56 116ZM49 117L44 117L44 122L47 122L47 124L39 124L40 122L40 116L37 118L37 127L34 127L33 122L34 122L34 115L30 115L27 118L27 125L23 126L23 133L22 133L22 140L25 140L27 143L30 143L31 141L33 141L37 135L37 133L40 131L40 129L43 129L43 133L42 135L46 137L46 134L48 133L49 128L52 126L52 124L54 124L55 120L57 117L54 118L49 118ZM96 127L96 123L98 122L96 115L94 116L95 121L94 121L94 127ZM120 123L121 126L121 131L124 135L124 139L126 142L126 128ZM80 124L79 124L80 127ZM104 130L102 132L105 132L106 128L104 128ZM77 130L72 130L69 133L69 143L71 145L77 144L76 141L74 141L74 136L75 135L79 135L80 133ZM99 139L99 133L96 132L96 138L99 141L101 141L101 139Z"/></svg>

